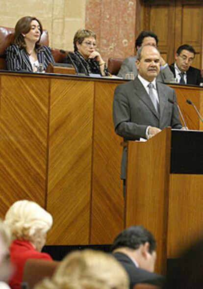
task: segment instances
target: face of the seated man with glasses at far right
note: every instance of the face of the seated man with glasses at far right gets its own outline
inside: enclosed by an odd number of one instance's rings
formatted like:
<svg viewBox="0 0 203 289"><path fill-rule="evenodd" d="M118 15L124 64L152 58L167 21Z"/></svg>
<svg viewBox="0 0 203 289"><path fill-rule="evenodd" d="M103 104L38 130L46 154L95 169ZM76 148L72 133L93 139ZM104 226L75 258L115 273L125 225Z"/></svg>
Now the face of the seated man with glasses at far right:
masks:
<svg viewBox="0 0 203 289"><path fill-rule="evenodd" d="M188 71L194 58L195 58L194 53L183 49L180 54L176 53L175 55L176 65L178 66L181 72L186 72Z"/></svg>

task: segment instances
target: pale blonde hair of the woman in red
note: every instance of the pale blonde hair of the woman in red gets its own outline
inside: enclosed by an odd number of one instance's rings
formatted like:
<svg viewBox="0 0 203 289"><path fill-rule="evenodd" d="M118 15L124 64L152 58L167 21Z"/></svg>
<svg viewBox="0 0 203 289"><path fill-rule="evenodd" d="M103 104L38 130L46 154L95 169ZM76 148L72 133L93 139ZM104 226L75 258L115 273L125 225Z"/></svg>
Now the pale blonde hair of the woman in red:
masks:
<svg viewBox="0 0 203 289"><path fill-rule="evenodd" d="M15 202L6 212L4 223L14 239L30 241L36 233L46 234L52 226L52 216L37 203Z"/></svg>

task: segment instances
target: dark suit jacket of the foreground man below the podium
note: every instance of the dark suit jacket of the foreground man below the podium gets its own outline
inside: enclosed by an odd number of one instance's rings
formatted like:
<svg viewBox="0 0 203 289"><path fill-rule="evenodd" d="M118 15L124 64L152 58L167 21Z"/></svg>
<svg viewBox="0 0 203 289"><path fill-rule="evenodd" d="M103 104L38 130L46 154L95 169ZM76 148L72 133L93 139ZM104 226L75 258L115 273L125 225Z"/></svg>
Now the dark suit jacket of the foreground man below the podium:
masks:
<svg viewBox="0 0 203 289"><path fill-rule="evenodd" d="M163 276L136 267L126 254L116 252L113 256L127 271L130 280L130 289L137 283L148 283L157 286L163 285L165 281Z"/></svg>

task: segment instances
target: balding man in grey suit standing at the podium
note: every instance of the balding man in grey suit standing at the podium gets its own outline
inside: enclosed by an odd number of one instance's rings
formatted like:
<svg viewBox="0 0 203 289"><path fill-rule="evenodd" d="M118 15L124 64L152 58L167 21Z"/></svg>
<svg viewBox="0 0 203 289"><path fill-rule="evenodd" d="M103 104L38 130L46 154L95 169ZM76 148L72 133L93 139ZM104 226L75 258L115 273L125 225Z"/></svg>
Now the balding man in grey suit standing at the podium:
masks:
<svg viewBox="0 0 203 289"><path fill-rule="evenodd" d="M113 121L115 132L126 140L149 139L166 127L181 129L174 89L157 82L160 53L151 46L141 47L135 62L138 76L118 85L114 92ZM126 180L124 148L121 179Z"/></svg>

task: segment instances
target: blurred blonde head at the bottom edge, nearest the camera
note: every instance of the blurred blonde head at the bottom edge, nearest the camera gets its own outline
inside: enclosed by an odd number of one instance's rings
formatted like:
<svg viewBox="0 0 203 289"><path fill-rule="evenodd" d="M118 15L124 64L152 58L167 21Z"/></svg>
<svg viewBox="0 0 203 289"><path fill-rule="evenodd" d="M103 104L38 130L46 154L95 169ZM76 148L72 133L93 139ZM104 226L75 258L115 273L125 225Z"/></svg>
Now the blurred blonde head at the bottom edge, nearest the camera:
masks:
<svg viewBox="0 0 203 289"><path fill-rule="evenodd" d="M70 253L57 267L51 279L35 289L128 289L124 268L113 256L84 250Z"/></svg>

